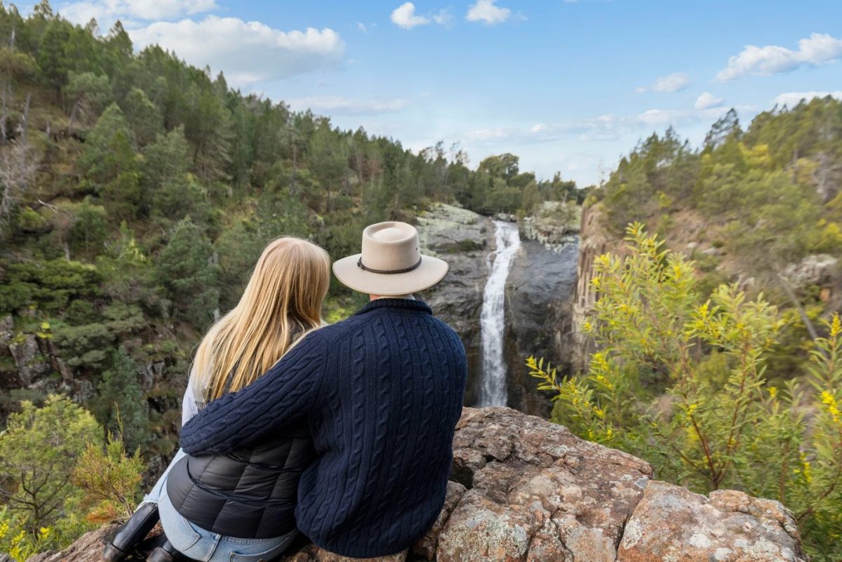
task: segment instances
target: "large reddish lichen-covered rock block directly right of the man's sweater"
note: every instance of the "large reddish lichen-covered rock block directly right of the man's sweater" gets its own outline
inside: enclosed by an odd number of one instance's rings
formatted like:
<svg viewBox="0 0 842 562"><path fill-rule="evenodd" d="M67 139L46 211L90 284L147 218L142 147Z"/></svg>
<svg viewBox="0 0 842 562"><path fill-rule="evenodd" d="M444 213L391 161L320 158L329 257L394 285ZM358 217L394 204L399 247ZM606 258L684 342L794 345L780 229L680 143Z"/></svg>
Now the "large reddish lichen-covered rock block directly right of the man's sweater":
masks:
<svg viewBox="0 0 842 562"><path fill-rule="evenodd" d="M471 490L439 538L440 561L613 561L652 475L632 455L508 408L466 408L453 447Z"/></svg>

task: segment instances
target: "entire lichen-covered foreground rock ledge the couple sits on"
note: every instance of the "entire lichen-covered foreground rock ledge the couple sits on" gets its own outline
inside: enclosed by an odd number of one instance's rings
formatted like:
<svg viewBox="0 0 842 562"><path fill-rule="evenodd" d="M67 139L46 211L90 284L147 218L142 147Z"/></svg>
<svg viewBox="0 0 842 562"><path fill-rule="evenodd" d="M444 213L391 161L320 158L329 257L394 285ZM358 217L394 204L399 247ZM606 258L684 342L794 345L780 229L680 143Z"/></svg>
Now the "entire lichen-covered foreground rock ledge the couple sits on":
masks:
<svg viewBox="0 0 842 562"><path fill-rule="evenodd" d="M377 562L807 562L777 501L709 497L651 480L649 465L508 408L466 408L438 521ZM29 562L94 562L110 528ZM289 562L350 562L312 544Z"/></svg>

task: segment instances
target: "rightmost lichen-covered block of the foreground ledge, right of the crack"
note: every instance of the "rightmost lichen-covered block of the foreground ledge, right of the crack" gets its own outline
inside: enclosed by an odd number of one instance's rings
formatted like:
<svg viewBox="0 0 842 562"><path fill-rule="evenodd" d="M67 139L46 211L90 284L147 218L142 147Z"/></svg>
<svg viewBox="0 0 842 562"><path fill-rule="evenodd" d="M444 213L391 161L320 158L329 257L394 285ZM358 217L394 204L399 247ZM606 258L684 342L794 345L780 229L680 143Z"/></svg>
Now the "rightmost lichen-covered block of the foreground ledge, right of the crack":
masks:
<svg viewBox="0 0 842 562"><path fill-rule="evenodd" d="M705 497L650 482L626 523L617 562L805 562L799 541L778 501L735 490Z"/></svg>

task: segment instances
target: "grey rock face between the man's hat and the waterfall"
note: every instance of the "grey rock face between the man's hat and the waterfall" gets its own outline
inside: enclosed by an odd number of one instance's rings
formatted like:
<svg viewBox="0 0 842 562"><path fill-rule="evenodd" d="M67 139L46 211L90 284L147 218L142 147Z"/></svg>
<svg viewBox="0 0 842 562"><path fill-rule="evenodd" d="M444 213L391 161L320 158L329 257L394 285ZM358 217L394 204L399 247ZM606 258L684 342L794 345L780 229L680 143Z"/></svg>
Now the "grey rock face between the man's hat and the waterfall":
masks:
<svg viewBox="0 0 842 562"><path fill-rule="evenodd" d="M421 249L450 264L447 276L419 296L461 337L468 357L465 403L477 401L482 372L480 310L488 280L488 254L494 250L493 222L451 205L437 204L418 217Z"/></svg>

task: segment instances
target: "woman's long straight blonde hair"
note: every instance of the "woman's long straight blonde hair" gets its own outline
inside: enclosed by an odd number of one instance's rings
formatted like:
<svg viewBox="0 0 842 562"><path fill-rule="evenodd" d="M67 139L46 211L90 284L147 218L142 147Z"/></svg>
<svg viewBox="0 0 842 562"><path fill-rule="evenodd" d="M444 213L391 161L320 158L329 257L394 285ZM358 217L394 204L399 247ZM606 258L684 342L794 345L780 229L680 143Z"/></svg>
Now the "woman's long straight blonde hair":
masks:
<svg viewBox="0 0 842 562"><path fill-rule="evenodd" d="M329 284L330 257L321 247L289 236L269 242L240 302L199 344L191 377L194 395L216 400L269 370L321 326Z"/></svg>

